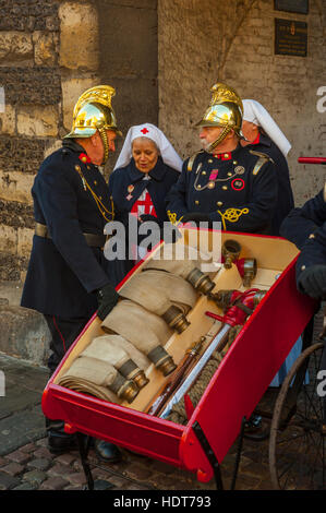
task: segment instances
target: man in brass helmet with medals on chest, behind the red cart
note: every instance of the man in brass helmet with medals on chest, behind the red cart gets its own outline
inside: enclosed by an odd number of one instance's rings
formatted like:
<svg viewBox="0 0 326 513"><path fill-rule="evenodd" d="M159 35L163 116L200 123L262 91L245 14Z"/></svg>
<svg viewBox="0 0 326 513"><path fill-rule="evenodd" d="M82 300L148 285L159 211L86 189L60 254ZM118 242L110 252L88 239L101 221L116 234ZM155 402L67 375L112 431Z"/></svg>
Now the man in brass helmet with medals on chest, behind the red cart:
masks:
<svg viewBox="0 0 326 513"><path fill-rule="evenodd" d="M215 84L202 121L203 150L183 163L168 195L171 223L220 222L227 231L270 234L277 201L271 159L239 144L243 107L237 92Z"/></svg>

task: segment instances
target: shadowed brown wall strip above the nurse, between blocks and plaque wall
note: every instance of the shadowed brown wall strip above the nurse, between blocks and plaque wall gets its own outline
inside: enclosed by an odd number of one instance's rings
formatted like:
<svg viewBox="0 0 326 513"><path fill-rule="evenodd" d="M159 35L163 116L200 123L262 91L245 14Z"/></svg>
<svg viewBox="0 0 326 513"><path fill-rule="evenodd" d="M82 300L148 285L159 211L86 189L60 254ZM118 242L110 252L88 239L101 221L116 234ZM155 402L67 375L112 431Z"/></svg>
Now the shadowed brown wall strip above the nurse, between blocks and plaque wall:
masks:
<svg viewBox="0 0 326 513"><path fill-rule="evenodd" d="M100 76L117 90L114 109L123 134L133 124L157 124L157 0L95 3L100 12ZM118 141L117 154L121 143Z"/></svg>

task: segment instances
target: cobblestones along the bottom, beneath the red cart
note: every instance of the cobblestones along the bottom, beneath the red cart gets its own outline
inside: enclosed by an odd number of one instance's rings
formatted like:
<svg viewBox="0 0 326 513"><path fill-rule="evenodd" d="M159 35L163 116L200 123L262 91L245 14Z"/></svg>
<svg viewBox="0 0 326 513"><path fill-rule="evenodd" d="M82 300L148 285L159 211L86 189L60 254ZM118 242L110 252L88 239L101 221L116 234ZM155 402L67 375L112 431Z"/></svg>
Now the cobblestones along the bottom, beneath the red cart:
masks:
<svg viewBox="0 0 326 513"><path fill-rule="evenodd" d="M265 443L245 441L237 490L270 490L268 450ZM225 488L231 484L234 450L221 470ZM112 490L215 490L215 480L201 484L188 473L158 461L123 451L123 462L101 463L90 450L95 489ZM40 439L0 456L0 490L81 490L86 485L79 451L53 456Z"/></svg>

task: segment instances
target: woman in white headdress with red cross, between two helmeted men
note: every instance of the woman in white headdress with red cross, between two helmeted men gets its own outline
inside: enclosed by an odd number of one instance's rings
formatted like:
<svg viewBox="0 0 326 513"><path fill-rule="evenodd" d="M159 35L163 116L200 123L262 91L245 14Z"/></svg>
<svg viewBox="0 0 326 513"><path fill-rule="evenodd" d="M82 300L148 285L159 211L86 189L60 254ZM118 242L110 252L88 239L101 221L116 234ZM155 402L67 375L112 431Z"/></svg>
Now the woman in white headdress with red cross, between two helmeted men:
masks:
<svg viewBox="0 0 326 513"><path fill-rule="evenodd" d="M144 251L140 251L142 238L135 234L141 225L154 222L147 226L157 227L159 240L159 231L169 220L166 195L178 180L181 168L180 156L157 127L144 123L130 128L109 178L113 225L118 229L106 246L105 254L109 260L110 279L116 286L144 256ZM117 222L123 225L123 234ZM121 243L120 250L117 243Z"/></svg>

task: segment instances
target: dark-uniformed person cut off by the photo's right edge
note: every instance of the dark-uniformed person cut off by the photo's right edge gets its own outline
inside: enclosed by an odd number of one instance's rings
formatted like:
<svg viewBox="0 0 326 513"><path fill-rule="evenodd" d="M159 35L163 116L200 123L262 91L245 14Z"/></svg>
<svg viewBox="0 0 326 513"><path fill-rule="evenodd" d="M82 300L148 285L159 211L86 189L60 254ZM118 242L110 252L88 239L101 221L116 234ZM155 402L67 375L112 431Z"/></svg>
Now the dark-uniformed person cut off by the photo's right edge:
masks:
<svg viewBox="0 0 326 513"><path fill-rule="evenodd" d="M301 208L293 208L280 227L280 235L300 250L297 261L297 287L314 299L326 299L326 184ZM321 370L326 370L324 347ZM326 425L326 398L324 397Z"/></svg>

